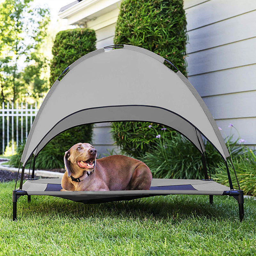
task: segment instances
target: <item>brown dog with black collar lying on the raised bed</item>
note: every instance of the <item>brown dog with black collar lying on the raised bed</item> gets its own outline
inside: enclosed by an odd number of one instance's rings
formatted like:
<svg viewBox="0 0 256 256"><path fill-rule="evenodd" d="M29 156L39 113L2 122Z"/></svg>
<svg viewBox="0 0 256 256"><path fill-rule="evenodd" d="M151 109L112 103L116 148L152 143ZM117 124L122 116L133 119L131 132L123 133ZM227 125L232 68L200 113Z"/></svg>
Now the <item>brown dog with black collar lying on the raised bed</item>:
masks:
<svg viewBox="0 0 256 256"><path fill-rule="evenodd" d="M89 143L77 143L64 156L61 191L148 190L152 174L146 164L127 156L97 159Z"/></svg>

